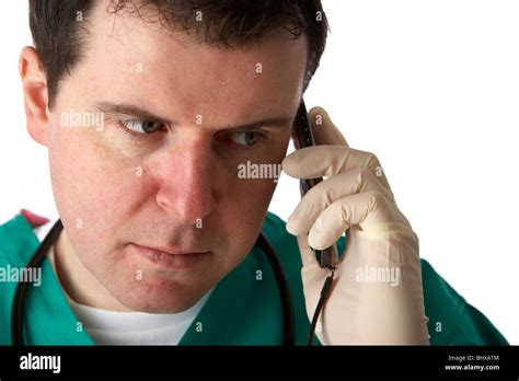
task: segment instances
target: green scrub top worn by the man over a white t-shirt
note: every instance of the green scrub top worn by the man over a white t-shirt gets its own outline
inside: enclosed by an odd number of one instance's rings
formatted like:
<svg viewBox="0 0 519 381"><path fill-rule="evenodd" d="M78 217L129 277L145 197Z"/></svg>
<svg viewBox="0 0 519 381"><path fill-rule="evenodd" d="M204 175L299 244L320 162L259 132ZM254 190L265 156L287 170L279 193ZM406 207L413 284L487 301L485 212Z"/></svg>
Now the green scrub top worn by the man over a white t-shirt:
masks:
<svg viewBox="0 0 519 381"><path fill-rule="evenodd" d="M296 345L307 345L310 322L301 280L297 240L285 222L267 212L263 232L284 266L291 292ZM24 267L39 242L22 215L0 226L0 267ZM344 240L339 250L344 250ZM422 259L425 312L431 345L507 345L505 337L474 307ZM0 282L0 345L11 345L11 305L15 282ZM73 314L49 261L42 281L26 295L27 345L94 345ZM345 322L347 324L347 322ZM216 285L178 345L281 345L282 309L275 275L258 247ZM320 345L315 337L314 345Z"/></svg>

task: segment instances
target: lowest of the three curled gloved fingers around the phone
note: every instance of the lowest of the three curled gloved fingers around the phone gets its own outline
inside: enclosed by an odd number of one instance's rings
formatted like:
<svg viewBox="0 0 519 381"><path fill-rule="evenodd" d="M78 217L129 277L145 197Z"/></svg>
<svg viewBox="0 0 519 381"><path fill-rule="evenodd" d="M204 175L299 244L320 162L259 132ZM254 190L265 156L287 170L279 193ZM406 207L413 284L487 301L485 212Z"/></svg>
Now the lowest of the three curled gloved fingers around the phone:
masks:
<svg viewBox="0 0 519 381"><path fill-rule="evenodd" d="M350 227L381 224L406 227L396 206L379 192L364 192L334 201L310 228L308 243L315 250L330 247ZM362 228L364 229L364 228Z"/></svg>

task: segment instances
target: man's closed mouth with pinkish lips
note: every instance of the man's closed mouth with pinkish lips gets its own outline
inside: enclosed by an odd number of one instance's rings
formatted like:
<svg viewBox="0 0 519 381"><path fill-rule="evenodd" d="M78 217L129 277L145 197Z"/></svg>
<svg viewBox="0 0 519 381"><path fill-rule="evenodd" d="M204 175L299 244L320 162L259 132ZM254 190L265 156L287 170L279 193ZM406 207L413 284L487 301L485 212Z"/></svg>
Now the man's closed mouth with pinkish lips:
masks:
<svg viewBox="0 0 519 381"><path fill-rule="evenodd" d="M197 263L206 259L210 252L201 251L163 251L155 247L142 246L136 243L131 244L137 253L158 267L175 270L186 270L194 267Z"/></svg>

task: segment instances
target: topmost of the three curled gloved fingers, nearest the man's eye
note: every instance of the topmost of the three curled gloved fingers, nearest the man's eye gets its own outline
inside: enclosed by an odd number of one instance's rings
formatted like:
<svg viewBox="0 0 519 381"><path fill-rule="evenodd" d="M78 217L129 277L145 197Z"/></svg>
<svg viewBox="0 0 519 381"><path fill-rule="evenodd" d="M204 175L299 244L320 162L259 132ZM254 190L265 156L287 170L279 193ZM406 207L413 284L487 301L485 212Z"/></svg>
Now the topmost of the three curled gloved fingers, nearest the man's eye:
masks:
<svg viewBox="0 0 519 381"><path fill-rule="evenodd" d="M380 165L371 152L345 146L315 146L296 150L282 160L282 170L291 177L331 177L357 168L370 170L389 190L391 187Z"/></svg>

